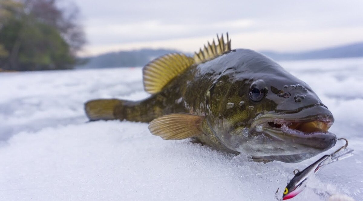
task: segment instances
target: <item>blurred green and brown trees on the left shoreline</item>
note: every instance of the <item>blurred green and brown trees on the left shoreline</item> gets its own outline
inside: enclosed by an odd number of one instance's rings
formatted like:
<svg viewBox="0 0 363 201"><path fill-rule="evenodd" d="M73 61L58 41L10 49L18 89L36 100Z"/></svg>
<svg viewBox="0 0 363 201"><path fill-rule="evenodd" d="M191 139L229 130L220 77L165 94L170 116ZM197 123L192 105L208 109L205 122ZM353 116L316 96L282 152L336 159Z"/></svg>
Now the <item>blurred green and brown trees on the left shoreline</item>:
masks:
<svg viewBox="0 0 363 201"><path fill-rule="evenodd" d="M85 44L78 13L57 0L0 0L0 71L72 69Z"/></svg>

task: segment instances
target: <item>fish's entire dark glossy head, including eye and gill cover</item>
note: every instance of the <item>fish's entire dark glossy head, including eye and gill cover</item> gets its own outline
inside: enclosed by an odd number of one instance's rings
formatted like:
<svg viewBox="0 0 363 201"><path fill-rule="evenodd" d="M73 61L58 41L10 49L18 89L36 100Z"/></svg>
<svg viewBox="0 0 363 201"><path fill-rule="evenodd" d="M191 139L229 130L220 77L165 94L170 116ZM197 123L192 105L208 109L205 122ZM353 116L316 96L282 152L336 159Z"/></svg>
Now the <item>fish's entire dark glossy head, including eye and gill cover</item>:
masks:
<svg viewBox="0 0 363 201"><path fill-rule="evenodd" d="M328 132L333 115L309 85L260 53L241 55L213 88L214 130L225 146L294 163L335 145L337 137Z"/></svg>

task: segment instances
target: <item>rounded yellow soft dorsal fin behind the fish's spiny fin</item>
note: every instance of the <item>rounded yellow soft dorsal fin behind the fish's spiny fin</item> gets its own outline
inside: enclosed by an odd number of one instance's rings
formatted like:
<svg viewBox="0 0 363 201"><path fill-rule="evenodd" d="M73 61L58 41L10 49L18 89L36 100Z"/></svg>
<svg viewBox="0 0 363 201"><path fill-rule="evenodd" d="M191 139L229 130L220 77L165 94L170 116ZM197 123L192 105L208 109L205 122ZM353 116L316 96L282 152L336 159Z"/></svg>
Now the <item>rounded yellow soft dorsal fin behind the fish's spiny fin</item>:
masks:
<svg viewBox="0 0 363 201"><path fill-rule="evenodd" d="M179 53L167 54L150 61L142 69L145 91L151 94L160 92L174 77L194 63L192 57Z"/></svg>

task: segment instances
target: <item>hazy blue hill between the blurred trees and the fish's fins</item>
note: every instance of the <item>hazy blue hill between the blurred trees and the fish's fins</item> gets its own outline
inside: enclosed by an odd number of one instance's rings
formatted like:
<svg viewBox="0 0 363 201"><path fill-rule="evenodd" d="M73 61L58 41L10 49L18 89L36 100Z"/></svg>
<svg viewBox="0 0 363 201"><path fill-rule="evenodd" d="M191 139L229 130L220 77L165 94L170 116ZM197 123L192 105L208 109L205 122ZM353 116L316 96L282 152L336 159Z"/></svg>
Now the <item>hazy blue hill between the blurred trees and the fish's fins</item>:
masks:
<svg viewBox="0 0 363 201"><path fill-rule="evenodd" d="M119 51L94 57L82 58L83 65L77 68L115 68L144 66L152 59L168 54L180 52L173 49L140 49L134 51Z"/></svg>

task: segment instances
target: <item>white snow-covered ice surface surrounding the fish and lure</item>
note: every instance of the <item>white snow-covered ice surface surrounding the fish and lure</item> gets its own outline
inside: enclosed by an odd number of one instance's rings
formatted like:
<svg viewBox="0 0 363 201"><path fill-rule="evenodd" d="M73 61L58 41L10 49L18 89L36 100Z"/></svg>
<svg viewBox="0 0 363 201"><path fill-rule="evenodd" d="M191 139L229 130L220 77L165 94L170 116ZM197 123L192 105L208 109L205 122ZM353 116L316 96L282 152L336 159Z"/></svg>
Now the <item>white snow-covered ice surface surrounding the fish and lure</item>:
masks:
<svg viewBox="0 0 363 201"><path fill-rule="evenodd" d="M330 130L355 150L293 200L321 200L312 188L362 200L363 58L280 64L314 89L334 114ZM141 68L0 73L0 86L0 200L274 200L319 158L256 163L162 140L146 123L87 122L87 100L147 97Z"/></svg>

